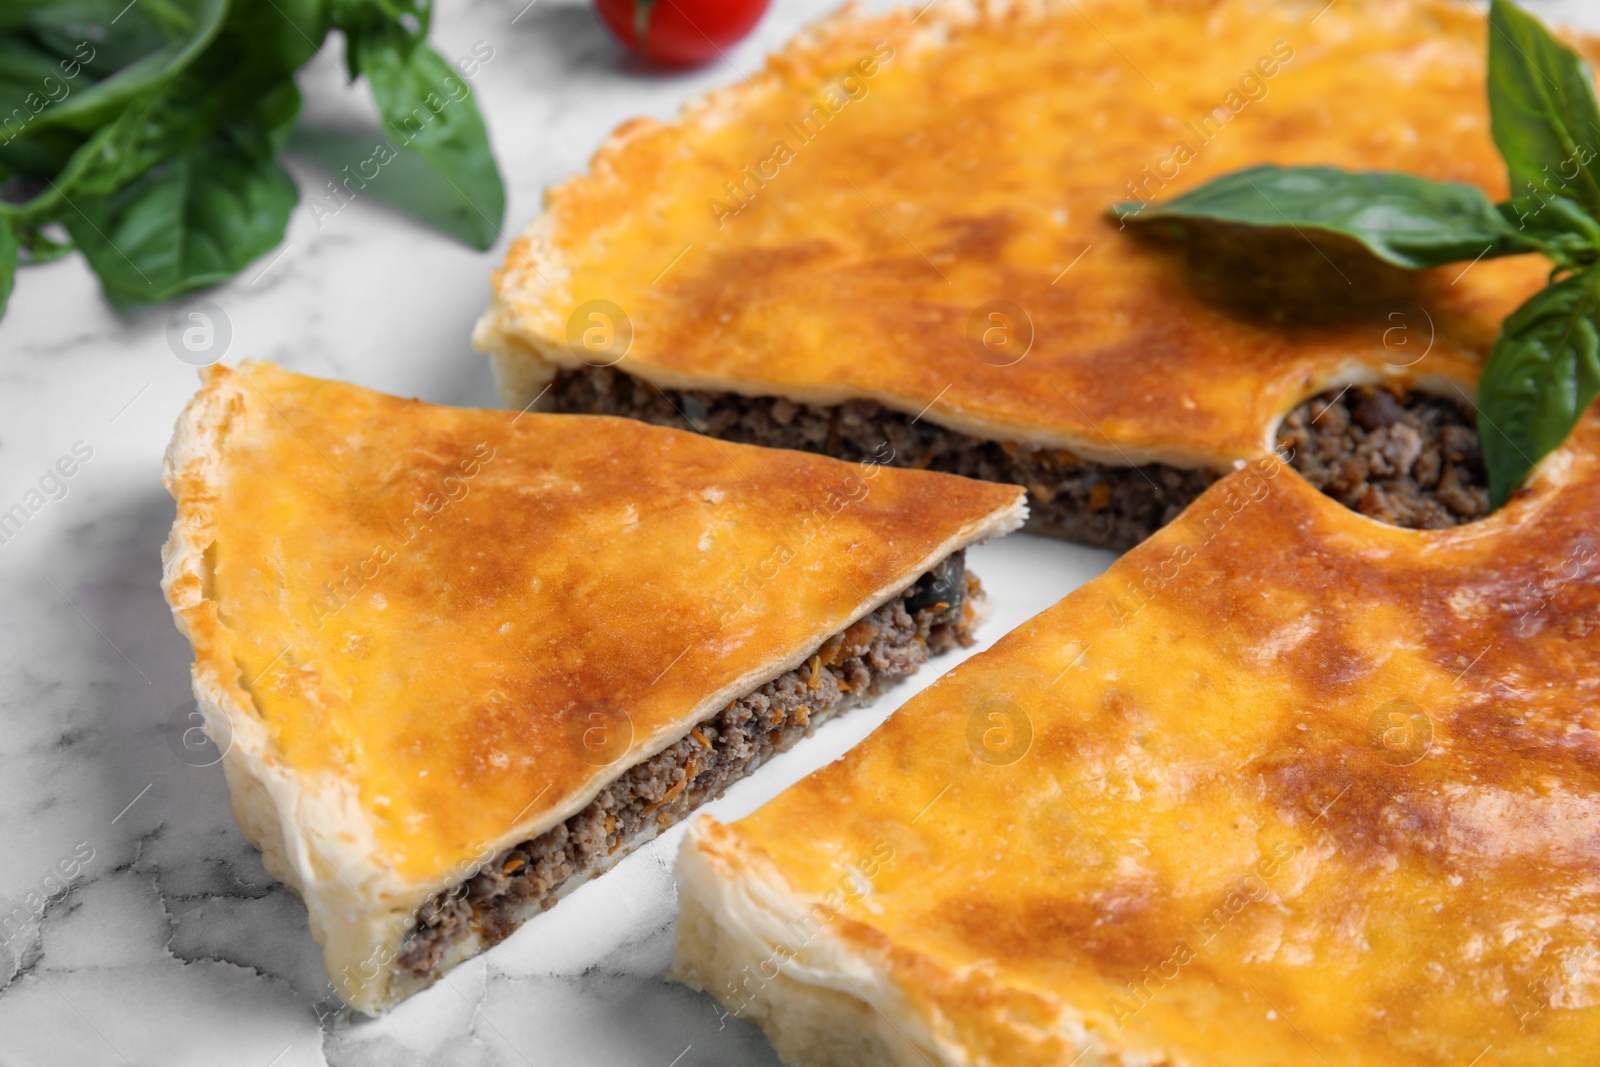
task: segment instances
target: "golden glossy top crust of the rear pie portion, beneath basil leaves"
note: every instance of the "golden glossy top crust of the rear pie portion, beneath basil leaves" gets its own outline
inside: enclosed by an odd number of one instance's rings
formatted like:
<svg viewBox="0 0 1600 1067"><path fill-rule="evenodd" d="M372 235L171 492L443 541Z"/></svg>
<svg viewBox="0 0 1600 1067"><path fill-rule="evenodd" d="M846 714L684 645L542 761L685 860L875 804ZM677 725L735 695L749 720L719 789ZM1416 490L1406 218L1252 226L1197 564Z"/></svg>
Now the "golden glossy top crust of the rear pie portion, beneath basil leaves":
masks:
<svg viewBox="0 0 1600 1067"><path fill-rule="evenodd" d="M624 125L589 174L550 189L477 331L504 398L528 403L576 366L568 317L603 299L632 322L618 370L662 386L874 398L981 438L1216 467L1262 454L1285 411L1349 381L1470 395L1501 320L1544 285L1538 256L1464 277L1325 259L1299 235L1186 256L1106 218L1146 166L1174 174L1146 197L1277 162L1502 198L1486 26L1466 5L914 8L846 8L675 123ZM837 88L845 74L856 99ZM1251 74L1261 99L1240 91ZM827 120L802 142L814 106ZM1229 118L1203 142L1189 123L1214 109ZM754 195L718 224L738 206L730 181ZM1011 366L968 346L973 310L994 299L1034 325Z"/></svg>

